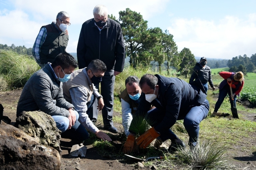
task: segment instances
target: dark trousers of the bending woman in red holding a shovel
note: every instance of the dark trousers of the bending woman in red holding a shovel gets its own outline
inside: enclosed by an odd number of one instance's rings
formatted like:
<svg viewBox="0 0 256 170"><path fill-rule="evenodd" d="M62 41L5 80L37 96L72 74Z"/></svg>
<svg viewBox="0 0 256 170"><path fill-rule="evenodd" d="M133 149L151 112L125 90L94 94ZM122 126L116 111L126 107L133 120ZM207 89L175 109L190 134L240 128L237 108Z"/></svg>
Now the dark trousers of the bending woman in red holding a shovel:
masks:
<svg viewBox="0 0 256 170"><path fill-rule="evenodd" d="M219 98L214 107L215 112L218 112L218 109L220 108L220 106L221 106L222 102L224 101L224 99L226 98L227 94L229 96L231 108L233 108L233 107L236 108L236 95L234 96L234 101L232 101L231 96L230 96L231 93L230 93L229 86L224 86L224 88L222 88L219 92Z"/></svg>

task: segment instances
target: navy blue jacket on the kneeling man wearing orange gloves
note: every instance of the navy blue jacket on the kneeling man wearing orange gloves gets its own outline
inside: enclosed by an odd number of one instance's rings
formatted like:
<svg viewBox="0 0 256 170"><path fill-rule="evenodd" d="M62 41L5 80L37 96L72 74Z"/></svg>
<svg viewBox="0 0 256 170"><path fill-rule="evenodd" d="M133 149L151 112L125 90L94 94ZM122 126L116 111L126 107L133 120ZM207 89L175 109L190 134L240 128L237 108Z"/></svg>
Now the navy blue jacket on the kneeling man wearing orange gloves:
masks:
<svg viewBox="0 0 256 170"><path fill-rule="evenodd" d="M158 78L159 96L157 99L160 104L156 100L149 103L146 101L145 94L142 93L138 110L133 115L131 126L134 119L136 119L136 115L146 115L151 105L153 105L162 113L165 113L162 122L154 127L156 131L162 133L170 129L177 120L184 119L192 107L200 106L206 99L206 93L199 79L188 84L179 78L167 78L158 74L155 76ZM130 129L129 131L134 133Z"/></svg>

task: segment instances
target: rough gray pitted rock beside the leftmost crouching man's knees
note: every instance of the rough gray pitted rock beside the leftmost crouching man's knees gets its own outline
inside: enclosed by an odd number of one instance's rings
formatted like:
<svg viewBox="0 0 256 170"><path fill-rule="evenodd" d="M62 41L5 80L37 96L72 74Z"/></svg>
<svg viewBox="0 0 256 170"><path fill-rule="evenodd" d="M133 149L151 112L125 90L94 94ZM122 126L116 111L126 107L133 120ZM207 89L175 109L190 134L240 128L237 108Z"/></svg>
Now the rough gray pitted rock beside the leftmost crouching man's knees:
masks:
<svg viewBox="0 0 256 170"><path fill-rule="evenodd" d="M16 118L16 127L22 129L42 145L53 147L61 153L60 134L52 117L42 111L23 111Z"/></svg>

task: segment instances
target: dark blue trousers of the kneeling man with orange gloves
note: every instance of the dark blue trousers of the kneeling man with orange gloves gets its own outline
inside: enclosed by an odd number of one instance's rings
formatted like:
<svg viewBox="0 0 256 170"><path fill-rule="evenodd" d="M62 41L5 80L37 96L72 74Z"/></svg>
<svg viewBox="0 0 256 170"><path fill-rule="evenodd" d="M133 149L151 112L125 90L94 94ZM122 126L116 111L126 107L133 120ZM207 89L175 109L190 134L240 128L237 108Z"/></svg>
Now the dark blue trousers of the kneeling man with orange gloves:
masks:
<svg viewBox="0 0 256 170"><path fill-rule="evenodd" d="M199 135L199 123L206 118L209 112L209 102L208 100L204 100L204 103L202 103L200 106L192 107L188 110L188 113L185 117L180 117L178 120L182 120L184 127L189 135L189 143L193 143L196 145L198 135ZM155 108L150 111L148 111L147 116L148 119L146 121L150 124L150 126L154 127L158 125L165 117L165 113L160 111L159 109ZM166 141L167 139L170 139L171 141L174 141L177 139L177 136L171 131L171 129L166 130L165 132L161 133L160 138L162 141Z"/></svg>

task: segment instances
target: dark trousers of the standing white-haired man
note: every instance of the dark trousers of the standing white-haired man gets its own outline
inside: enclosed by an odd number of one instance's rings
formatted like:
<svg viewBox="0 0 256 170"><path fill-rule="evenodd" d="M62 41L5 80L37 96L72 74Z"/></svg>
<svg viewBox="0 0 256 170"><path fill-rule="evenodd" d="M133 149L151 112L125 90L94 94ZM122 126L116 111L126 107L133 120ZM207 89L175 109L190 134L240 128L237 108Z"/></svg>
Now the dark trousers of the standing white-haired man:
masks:
<svg viewBox="0 0 256 170"><path fill-rule="evenodd" d="M116 76L114 76L114 70L107 70L102 77L102 82L100 82L100 94L103 97L104 107L102 109L102 117L104 126L114 125L112 121L113 117L113 105L114 105L114 83ZM99 84L96 85L96 88L99 89ZM98 119L98 100L96 99L92 108L93 113L89 118L93 120Z"/></svg>

